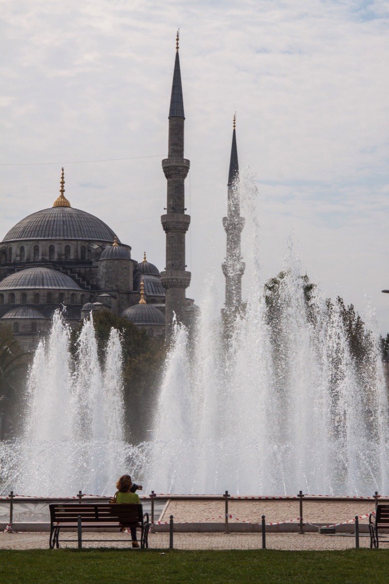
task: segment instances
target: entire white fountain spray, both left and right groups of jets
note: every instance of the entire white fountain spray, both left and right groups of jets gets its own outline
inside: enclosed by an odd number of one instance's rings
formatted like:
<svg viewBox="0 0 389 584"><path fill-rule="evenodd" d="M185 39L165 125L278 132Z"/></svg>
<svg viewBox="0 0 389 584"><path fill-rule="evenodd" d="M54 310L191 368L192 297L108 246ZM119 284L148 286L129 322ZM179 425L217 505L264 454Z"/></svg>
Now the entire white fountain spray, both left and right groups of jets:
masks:
<svg viewBox="0 0 389 584"><path fill-rule="evenodd" d="M117 331L100 367L85 321L73 365L57 312L31 366L24 435L2 444L3 492L111 494L126 471L164 493L388 491L374 311L367 306L356 358L341 303L307 286L290 242L282 273L264 286L250 177L241 177L241 197L247 303L229 315L226 334L211 280L194 335L176 325L150 442L124 441Z"/></svg>

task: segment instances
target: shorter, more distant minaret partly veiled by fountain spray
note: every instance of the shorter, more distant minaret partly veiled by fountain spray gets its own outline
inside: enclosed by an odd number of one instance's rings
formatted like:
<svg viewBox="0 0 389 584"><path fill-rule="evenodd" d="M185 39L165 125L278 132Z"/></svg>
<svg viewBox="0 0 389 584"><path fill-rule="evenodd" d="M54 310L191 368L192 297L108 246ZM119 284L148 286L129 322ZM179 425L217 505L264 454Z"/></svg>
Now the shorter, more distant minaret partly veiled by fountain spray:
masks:
<svg viewBox="0 0 389 584"><path fill-rule="evenodd" d="M240 308L242 300L241 278L245 267L240 256L240 234L243 230L244 218L240 216L239 164L235 127L236 116L234 115L227 185L227 217L223 217L223 227L227 234L226 261L222 265L223 274L226 277L226 312L234 312Z"/></svg>

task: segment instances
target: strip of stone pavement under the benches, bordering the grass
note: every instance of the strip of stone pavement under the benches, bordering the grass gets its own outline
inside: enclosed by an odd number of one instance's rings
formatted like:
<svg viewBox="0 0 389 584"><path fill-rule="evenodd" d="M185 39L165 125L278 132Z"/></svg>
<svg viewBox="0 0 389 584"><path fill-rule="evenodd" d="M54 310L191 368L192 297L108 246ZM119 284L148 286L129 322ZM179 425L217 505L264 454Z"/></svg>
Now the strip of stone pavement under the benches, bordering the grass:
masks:
<svg viewBox="0 0 389 584"><path fill-rule="evenodd" d="M129 534L114 533L83 533L85 538L94 538L96 541L83 543L83 548L127 548L130 547ZM104 538L117 537L119 541L113 543L102 542ZM66 533L64 539L75 539L76 533ZM100 542L100 543L99 543ZM383 545L387 548L389 540ZM359 539L360 547L369 547L370 539L362 534ZM176 550L257 550L262 546L260 533L174 533L174 548ZM268 550L347 550L355 547L353 535L325 536L318 533L269 533L266 535ZM66 543L61 547L76 548L76 542ZM169 548L168 533L150 533L150 548ZM48 549L48 533L3 533L0 534L0 549L3 550L45 550ZM132 551L132 549L131 549ZM137 550L134 550L137 551Z"/></svg>

